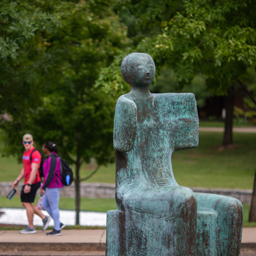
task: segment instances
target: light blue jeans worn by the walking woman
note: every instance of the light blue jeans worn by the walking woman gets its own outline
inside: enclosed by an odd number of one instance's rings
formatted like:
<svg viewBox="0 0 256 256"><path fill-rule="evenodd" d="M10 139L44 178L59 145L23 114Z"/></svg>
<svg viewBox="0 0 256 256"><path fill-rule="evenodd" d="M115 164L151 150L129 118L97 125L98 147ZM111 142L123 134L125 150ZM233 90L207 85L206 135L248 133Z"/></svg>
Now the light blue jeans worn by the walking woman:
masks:
<svg viewBox="0 0 256 256"><path fill-rule="evenodd" d="M54 229L60 230L60 190L61 188L46 188L43 196L44 209L50 214L54 221Z"/></svg>

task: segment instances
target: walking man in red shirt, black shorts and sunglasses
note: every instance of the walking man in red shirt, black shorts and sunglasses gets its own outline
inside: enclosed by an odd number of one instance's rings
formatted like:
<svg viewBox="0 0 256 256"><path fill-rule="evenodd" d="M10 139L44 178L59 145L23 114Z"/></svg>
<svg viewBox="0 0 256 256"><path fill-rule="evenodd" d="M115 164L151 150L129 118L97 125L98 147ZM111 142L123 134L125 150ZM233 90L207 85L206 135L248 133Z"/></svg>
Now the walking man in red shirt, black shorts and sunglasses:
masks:
<svg viewBox="0 0 256 256"><path fill-rule="evenodd" d="M34 214L37 214L43 220L43 231L47 228L50 222L50 217L45 216L34 205L36 191L41 186L41 178L39 176L38 168L41 163L41 154L33 147L34 141L31 134L25 134L23 136L23 146L25 151L23 153L22 162L23 168L20 175L13 182L12 188L17 187L21 179L25 178L24 185L20 192L20 199L23 207L27 211L28 226L20 231L20 234L34 234L36 229L33 225ZM31 160L30 160L31 159Z"/></svg>

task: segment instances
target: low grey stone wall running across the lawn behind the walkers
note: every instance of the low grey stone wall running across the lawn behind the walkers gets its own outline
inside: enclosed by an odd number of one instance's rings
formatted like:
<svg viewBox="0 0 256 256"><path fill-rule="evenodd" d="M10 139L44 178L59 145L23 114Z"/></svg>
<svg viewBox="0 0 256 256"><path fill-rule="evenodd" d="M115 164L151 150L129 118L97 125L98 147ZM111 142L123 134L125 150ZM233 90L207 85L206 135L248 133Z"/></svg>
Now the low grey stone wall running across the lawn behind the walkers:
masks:
<svg viewBox="0 0 256 256"><path fill-rule="evenodd" d="M22 184L17 188L17 195L20 194ZM0 182L0 196L7 196L12 189L12 182ZM222 188L191 188L196 193L210 193L237 198L243 204L251 204L251 189L222 189ZM39 190L38 190L39 191ZM115 198L115 184L109 183L81 183L81 197L89 198ZM62 197L75 197L75 185L64 187L61 190Z"/></svg>

